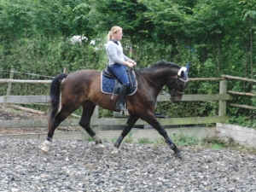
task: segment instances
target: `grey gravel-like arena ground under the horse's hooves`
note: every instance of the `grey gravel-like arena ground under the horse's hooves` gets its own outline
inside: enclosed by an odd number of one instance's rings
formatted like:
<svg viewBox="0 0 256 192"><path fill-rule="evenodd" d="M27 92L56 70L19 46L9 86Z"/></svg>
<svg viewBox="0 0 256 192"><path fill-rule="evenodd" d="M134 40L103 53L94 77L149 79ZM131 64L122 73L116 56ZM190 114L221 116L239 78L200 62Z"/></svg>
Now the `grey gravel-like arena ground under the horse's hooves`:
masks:
<svg viewBox="0 0 256 192"><path fill-rule="evenodd" d="M256 191L256 155L183 147L185 158L167 145L122 143L120 153L97 151L94 143L0 140L0 191Z"/></svg>

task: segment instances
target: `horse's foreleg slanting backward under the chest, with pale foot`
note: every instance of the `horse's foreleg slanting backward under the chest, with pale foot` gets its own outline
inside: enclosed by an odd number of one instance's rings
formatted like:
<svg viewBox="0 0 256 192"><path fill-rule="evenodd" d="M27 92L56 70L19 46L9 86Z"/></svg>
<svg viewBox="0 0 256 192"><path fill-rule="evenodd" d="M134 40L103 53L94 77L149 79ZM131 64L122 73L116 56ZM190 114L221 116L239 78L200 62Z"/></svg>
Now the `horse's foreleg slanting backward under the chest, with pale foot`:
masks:
<svg viewBox="0 0 256 192"><path fill-rule="evenodd" d="M131 114L131 116L128 118L125 128L122 131L119 138L116 140L116 142L113 144L113 152L111 154L118 154L119 153L119 146L124 140L125 136L128 135L128 133L131 131L132 126L137 122L137 119L139 119L139 116L135 114Z"/></svg>

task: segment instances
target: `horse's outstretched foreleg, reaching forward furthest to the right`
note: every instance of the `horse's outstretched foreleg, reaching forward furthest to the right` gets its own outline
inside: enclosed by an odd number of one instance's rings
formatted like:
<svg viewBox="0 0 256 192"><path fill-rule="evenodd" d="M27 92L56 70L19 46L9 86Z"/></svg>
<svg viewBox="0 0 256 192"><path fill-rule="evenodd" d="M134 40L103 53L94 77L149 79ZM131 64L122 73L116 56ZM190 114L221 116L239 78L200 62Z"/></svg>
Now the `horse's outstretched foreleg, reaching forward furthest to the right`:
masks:
<svg viewBox="0 0 256 192"><path fill-rule="evenodd" d="M145 119L146 120L146 119ZM172 139L168 136L166 129L160 125L157 119L155 117L147 118L146 120L149 125L152 125L156 131L160 133L162 137L165 138L166 143L172 148L174 155L178 158L182 158L182 153L179 148L177 148L176 144L172 142Z"/></svg>

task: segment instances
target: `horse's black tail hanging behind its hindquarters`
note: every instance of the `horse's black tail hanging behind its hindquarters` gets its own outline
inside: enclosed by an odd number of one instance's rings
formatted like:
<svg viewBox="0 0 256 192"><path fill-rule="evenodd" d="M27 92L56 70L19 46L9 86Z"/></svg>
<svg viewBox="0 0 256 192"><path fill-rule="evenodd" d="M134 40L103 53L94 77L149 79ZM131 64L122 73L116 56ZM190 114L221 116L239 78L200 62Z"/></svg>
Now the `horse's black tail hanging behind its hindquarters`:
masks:
<svg viewBox="0 0 256 192"><path fill-rule="evenodd" d="M58 74L51 82L49 87L49 98L50 98L50 113L49 113L49 124L52 124L55 115L58 112L60 106L61 96L61 81L67 77L67 73Z"/></svg>

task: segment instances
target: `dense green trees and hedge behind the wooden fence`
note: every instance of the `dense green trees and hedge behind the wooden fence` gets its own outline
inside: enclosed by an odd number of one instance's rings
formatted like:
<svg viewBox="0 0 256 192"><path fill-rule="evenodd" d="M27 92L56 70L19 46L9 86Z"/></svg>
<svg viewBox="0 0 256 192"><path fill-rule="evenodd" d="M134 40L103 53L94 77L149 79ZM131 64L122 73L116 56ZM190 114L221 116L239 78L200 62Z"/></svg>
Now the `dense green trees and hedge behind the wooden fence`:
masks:
<svg viewBox="0 0 256 192"><path fill-rule="evenodd" d="M102 70L108 62L106 37L117 25L125 32L125 55L137 61L137 68L165 59L182 66L190 62L189 78L229 74L255 79L255 6L255 0L2 0L0 78L9 78L11 68L19 72L15 79L51 79L64 67L67 73ZM86 40L71 44L73 35ZM229 90L253 92L253 86L229 82ZM6 88L1 86L0 95ZM15 84L12 93L36 95L48 89ZM189 82L185 92L218 93L218 83ZM232 102L255 106L255 97L234 96ZM171 117L208 116L217 115L217 108L217 102L166 102L157 111ZM255 127L255 110L228 108L227 113L230 122Z"/></svg>

